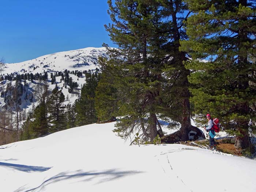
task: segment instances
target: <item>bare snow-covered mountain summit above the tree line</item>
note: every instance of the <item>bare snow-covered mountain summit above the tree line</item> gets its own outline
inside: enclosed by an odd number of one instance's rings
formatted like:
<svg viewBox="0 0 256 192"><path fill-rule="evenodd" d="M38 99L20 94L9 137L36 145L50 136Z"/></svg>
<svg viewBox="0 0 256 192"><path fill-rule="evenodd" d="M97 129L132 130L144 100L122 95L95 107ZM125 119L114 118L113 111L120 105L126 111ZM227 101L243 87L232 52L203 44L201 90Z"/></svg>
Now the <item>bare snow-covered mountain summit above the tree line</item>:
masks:
<svg viewBox="0 0 256 192"><path fill-rule="evenodd" d="M53 53L23 61L21 63L7 63L3 67L3 74L10 73L42 73L52 71L83 71L98 67L98 57L107 56L106 48L84 48L71 51ZM34 69L35 67L35 69Z"/></svg>

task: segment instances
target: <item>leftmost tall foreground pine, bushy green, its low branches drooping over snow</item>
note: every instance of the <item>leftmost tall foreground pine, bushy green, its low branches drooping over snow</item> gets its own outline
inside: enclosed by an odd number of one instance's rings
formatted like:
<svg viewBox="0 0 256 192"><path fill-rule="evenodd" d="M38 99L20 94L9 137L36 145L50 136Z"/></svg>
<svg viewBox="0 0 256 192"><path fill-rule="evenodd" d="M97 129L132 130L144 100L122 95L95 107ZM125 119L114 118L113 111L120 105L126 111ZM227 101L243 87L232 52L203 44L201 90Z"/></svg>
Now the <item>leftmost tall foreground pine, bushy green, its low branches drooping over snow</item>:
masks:
<svg viewBox="0 0 256 192"><path fill-rule="evenodd" d="M169 27L163 22L159 1L108 3L113 24L106 30L120 48L110 50L110 60L103 64L118 87L118 115L123 118L115 131L127 138L141 127L144 139L153 141L158 131L163 135L156 114Z"/></svg>

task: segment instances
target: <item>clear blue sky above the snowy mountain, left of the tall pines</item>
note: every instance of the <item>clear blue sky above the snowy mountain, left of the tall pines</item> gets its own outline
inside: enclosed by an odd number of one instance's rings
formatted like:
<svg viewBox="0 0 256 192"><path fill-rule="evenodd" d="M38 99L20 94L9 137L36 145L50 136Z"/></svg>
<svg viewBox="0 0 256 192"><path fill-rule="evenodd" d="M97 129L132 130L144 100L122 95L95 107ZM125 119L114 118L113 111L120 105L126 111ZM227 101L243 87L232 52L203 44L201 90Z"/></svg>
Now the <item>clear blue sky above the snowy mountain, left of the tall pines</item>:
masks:
<svg viewBox="0 0 256 192"><path fill-rule="evenodd" d="M107 0L1 1L0 57L17 63L86 47L115 46L105 31Z"/></svg>

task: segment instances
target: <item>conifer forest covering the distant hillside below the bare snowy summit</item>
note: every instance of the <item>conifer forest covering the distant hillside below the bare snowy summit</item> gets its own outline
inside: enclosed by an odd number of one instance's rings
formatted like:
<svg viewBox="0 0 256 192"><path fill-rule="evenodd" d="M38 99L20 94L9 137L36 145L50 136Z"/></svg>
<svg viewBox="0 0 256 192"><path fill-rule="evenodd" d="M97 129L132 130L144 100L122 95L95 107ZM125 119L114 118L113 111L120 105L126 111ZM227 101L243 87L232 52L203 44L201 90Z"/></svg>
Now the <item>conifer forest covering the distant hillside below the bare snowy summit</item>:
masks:
<svg viewBox="0 0 256 192"><path fill-rule="evenodd" d="M4 78L9 76L10 79L11 76L13 77L12 80L15 79L15 86L11 81L5 82L5 89L1 91L5 105L1 109L0 116L0 138L2 138L0 144L34 139L67 128L95 123L97 117L92 110L94 109L92 99L101 74L98 74L99 69L96 69L95 72L92 71L65 70L64 72L52 73L50 76L61 76L61 79L64 79L63 87L58 87L57 83L54 82L56 87L52 91L48 90L48 78L34 78L37 82L34 82L33 92L28 91L29 85L26 79L23 79L26 74L17 75L18 77L14 74L5 75ZM79 96L75 103L70 101L68 95L65 98L62 92L63 88L67 88L67 86L69 86L69 93L73 93L70 90L78 87L78 83L74 82L69 74L76 74L78 77L82 77L84 74L86 79L81 94L79 91L74 92ZM41 74L39 74L40 76ZM22 110L22 101L32 103L32 109L28 112L26 109ZM37 106L34 105L35 101L38 103Z"/></svg>

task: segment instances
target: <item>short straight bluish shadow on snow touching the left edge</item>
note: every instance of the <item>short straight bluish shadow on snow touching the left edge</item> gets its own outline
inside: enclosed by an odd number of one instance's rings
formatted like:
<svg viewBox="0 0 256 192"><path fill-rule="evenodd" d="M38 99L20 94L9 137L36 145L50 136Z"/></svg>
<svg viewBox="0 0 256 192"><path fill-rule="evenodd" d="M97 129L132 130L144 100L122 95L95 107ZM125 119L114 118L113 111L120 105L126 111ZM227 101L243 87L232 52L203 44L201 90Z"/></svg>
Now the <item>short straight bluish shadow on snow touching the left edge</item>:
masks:
<svg viewBox="0 0 256 192"><path fill-rule="evenodd" d="M30 165L20 165L13 163L3 163L0 162L0 166L10 167L23 172L44 172L49 170L52 167L40 167L40 166L30 166Z"/></svg>

